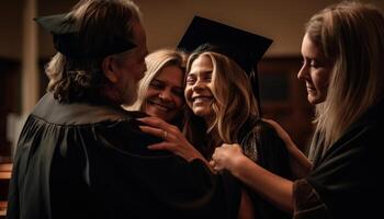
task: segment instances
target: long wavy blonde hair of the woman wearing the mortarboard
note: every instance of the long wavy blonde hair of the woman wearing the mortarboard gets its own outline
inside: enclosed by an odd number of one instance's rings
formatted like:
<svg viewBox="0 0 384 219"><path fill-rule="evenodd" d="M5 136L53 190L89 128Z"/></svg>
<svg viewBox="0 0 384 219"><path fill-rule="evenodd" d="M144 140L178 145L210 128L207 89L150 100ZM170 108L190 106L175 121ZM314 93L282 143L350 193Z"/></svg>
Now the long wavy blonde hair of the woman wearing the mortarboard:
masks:
<svg viewBox="0 0 384 219"><path fill-rule="evenodd" d="M213 65L212 94L215 101L212 103L212 110L215 116L207 127L197 125L195 116L185 116L183 132L189 140L200 145L197 147L204 151L202 142L196 141L196 138L201 138L197 135L201 134L202 127L204 127L205 135L217 131L222 142L238 142L240 128L247 120L259 118L259 111L249 78L228 57L213 51L192 54L187 62L187 72L190 72L192 62L201 56L208 57ZM192 112L189 111L189 114ZM212 152L212 148L206 149L204 155L210 157Z"/></svg>

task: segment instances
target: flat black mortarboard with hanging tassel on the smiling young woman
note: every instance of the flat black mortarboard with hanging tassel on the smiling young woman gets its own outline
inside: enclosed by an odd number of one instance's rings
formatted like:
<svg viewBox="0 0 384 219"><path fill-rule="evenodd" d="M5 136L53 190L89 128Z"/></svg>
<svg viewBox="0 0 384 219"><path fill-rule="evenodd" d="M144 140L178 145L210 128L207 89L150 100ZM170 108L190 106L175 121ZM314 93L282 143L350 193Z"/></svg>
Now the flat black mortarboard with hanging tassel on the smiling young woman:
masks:
<svg viewBox="0 0 384 219"><path fill-rule="evenodd" d="M260 104L256 66L271 44L272 39L267 37L194 16L178 48L189 53L214 51L233 59L250 78L253 94Z"/></svg>

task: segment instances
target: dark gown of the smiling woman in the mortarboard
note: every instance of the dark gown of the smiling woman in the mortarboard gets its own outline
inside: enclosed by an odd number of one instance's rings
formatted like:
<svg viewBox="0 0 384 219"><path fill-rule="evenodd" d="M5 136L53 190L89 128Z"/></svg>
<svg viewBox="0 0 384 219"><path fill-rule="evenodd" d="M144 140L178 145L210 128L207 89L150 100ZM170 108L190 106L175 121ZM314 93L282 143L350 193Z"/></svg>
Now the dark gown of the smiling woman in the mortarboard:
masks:
<svg viewBox="0 0 384 219"><path fill-rule="evenodd" d="M263 169L285 178L292 178L289 152L284 141L278 136L274 128L261 119L244 127L240 145L245 154ZM271 203L248 188L258 219L287 219L292 218Z"/></svg>

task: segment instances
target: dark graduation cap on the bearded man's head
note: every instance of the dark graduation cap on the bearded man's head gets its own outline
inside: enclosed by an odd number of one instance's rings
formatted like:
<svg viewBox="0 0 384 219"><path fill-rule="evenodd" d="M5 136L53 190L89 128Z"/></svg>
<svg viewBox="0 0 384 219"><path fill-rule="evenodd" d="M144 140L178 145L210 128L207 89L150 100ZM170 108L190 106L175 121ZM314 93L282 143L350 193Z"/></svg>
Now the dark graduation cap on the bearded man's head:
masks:
<svg viewBox="0 0 384 219"><path fill-rule="evenodd" d="M91 46L84 44L84 38L80 33L80 24L76 22L71 13L38 16L34 20L53 35L56 50L67 57L105 57L136 47L135 44L113 33L104 33L103 36L95 36L101 37L101 42L94 43ZM84 45L88 45L88 48L84 48Z"/></svg>

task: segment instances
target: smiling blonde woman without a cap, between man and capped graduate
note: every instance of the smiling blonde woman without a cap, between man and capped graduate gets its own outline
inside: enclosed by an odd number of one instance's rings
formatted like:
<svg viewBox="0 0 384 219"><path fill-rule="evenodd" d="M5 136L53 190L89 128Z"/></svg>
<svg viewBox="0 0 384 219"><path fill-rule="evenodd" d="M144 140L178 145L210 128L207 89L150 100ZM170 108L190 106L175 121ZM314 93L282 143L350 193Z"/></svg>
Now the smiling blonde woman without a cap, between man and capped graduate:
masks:
<svg viewBox="0 0 384 219"><path fill-rule="evenodd" d="M138 99L129 111L142 111L180 125L183 114L185 55L174 49L160 49L146 57L147 71L138 89Z"/></svg>

